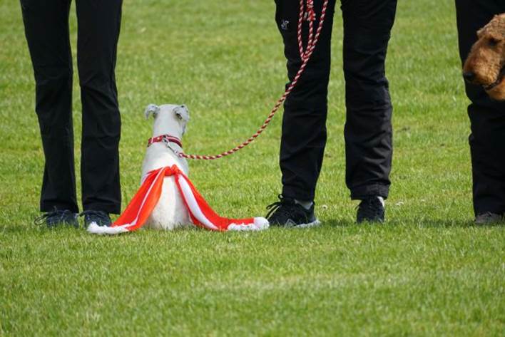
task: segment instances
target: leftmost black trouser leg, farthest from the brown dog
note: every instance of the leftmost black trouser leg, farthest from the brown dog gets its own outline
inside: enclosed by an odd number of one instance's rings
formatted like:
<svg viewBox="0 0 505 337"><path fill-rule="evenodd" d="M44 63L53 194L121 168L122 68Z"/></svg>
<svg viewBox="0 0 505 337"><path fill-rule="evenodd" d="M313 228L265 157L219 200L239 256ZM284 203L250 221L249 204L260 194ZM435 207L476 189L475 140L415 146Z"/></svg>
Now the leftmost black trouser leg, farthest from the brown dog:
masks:
<svg viewBox="0 0 505 337"><path fill-rule="evenodd" d="M72 57L69 0L21 0L26 41L36 82L35 110L46 160L41 212L78 212L73 164Z"/></svg>

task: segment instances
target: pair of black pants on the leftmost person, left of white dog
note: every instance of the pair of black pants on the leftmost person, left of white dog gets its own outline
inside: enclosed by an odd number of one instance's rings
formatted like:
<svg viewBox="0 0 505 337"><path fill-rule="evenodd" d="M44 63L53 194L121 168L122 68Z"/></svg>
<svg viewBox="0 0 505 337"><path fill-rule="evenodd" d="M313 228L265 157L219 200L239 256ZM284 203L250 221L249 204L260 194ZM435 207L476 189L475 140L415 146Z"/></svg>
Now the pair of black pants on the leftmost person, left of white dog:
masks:
<svg viewBox="0 0 505 337"><path fill-rule="evenodd" d="M34 66L35 110L46 164L41 211L78 212L73 164L70 0L21 0ZM81 180L84 209L121 211L118 145L121 118L114 68L121 0L76 0L82 100Z"/></svg>

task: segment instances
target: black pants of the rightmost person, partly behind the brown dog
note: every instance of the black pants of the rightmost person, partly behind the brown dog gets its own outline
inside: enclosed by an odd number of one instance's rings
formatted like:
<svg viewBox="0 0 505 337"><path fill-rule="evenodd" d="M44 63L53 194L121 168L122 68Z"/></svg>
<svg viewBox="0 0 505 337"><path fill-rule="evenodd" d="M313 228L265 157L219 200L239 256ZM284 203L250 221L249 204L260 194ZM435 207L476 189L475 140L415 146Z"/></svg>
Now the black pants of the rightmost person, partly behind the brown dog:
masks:
<svg viewBox="0 0 505 337"><path fill-rule="evenodd" d="M503 0L456 0L459 55L464 62L476 31L494 14L505 12ZM475 214L505 212L505 102L491 100L480 85L466 83Z"/></svg>

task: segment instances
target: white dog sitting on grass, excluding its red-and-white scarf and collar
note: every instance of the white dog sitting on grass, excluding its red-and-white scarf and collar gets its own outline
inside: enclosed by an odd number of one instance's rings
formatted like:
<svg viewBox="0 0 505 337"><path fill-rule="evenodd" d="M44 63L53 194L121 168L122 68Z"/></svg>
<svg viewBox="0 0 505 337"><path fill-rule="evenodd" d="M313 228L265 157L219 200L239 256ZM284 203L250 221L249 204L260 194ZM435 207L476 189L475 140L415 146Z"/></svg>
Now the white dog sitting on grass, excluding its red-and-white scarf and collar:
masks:
<svg viewBox="0 0 505 337"><path fill-rule="evenodd" d="M146 177L146 174L152 170L172 165L176 165L179 170L188 175L188 162L174 152L174 150L183 151L177 140L180 140L185 133L186 124L189 121L188 108L185 105L165 104L158 106L150 104L145 113L146 118L149 118L149 115L154 117L153 138L160 135L170 135L171 138L152 142L148 146L142 164L142 177ZM188 209L175 185L175 177L165 177L160 200L153 209L146 226L170 230L190 225Z"/></svg>

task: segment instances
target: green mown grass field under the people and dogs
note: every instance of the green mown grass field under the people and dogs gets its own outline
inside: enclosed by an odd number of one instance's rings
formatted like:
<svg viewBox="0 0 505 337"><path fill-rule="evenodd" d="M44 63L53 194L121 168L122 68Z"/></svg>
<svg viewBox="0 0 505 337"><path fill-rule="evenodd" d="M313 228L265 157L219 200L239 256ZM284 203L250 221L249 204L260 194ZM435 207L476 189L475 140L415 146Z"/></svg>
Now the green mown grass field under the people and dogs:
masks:
<svg viewBox="0 0 505 337"><path fill-rule="evenodd" d="M19 1L0 0L0 335L504 336L505 231L472 224L453 7L399 1L387 59L386 224L354 224L345 187L337 11L321 227L94 237L33 224L44 165L33 72ZM124 1L116 69L123 207L151 136L148 103L188 105L188 152L227 150L260 125L286 81L273 15L273 1ZM71 33L75 47L75 9ZM73 108L80 135L77 84ZM190 162L218 212L260 215L275 201L280 117L240 154ZM79 149L76 137L76 158Z"/></svg>

